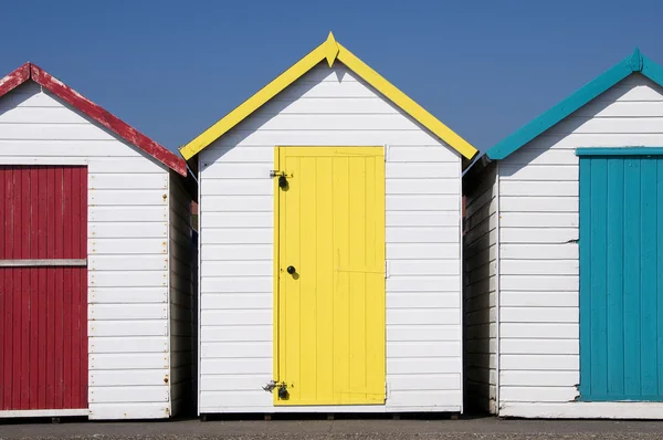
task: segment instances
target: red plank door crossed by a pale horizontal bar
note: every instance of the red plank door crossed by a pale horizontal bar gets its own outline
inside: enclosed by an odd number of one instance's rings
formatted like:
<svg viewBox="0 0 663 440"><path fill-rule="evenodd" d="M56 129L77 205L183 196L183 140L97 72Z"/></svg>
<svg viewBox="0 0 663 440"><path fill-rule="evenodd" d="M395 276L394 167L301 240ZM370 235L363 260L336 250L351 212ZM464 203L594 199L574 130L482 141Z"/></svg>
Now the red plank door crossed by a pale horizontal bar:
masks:
<svg viewBox="0 0 663 440"><path fill-rule="evenodd" d="M0 165L0 410L87 408L87 168Z"/></svg>

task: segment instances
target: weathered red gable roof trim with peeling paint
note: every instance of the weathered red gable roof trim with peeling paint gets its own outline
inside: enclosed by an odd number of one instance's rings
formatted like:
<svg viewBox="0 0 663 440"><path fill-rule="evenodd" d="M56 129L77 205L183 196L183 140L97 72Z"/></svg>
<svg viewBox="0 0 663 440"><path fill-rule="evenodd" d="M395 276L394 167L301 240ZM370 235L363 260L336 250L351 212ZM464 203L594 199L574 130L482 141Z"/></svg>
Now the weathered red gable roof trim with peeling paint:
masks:
<svg viewBox="0 0 663 440"><path fill-rule="evenodd" d="M25 63L0 80L0 97L17 88L28 80L34 81L81 113L87 115L123 139L166 165L168 168L182 176L187 176L187 164L182 158L176 156L166 147L157 144L155 140L99 107L33 63Z"/></svg>

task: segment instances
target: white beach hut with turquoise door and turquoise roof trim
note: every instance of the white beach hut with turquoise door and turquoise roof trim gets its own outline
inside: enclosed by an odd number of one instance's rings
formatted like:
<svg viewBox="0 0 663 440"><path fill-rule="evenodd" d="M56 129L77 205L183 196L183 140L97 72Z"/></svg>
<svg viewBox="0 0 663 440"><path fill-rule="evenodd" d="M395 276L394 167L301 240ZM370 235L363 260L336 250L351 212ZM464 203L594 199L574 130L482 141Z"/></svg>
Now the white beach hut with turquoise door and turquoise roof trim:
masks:
<svg viewBox="0 0 663 440"><path fill-rule="evenodd" d="M663 417L662 84L636 50L464 176L470 401Z"/></svg>

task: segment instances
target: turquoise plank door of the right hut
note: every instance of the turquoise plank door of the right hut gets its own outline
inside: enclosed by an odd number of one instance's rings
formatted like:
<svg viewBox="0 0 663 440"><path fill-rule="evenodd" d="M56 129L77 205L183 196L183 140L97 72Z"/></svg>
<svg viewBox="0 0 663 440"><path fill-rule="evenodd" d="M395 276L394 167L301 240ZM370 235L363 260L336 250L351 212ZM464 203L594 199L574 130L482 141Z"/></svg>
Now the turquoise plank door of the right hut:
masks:
<svg viewBox="0 0 663 440"><path fill-rule="evenodd" d="M663 151L578 150L581 400L663 400L663 156L652 153Z"/></svg>

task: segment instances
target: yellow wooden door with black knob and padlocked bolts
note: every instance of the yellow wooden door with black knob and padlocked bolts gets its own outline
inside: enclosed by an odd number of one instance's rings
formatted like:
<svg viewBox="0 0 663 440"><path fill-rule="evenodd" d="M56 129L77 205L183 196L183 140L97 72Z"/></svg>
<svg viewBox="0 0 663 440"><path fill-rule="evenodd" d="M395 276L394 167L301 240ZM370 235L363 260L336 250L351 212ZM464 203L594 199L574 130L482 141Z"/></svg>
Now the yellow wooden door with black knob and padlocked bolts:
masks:
<svg viewBox="0 0 663 440"><path fill-rule="evenodd" d="M382 147L277 147L275 405L385 404ZM290 269L290 270L288 270Z"/></svg>

